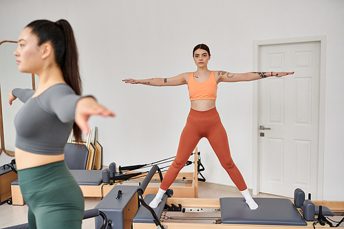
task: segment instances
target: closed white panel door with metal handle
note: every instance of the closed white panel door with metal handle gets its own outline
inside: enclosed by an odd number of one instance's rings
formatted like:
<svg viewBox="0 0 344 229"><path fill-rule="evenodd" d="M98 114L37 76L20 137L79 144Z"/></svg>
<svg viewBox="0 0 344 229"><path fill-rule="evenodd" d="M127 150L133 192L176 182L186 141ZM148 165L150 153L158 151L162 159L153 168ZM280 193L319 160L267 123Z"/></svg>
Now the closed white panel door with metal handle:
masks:
<svg viewBox="0 0 344 229"><path fill-rule="evenodd" d="M259 81L259 190L317 195L320 42L261 45L259 69L292 72ZM264 136L262 136L264 135Z"/></svg>

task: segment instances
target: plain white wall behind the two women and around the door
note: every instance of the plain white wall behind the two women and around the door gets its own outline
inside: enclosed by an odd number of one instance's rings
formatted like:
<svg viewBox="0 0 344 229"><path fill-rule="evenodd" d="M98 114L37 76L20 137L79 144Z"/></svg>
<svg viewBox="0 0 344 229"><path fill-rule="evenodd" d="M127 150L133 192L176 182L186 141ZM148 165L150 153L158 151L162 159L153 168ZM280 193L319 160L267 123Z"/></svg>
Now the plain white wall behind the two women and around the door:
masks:
<svg viewBox="0 0 344 229"><path fill-rule="evenodd" d="M344 184L336 176L344 171L343 12L342 0L0 0L0 41L17 40L34 19L67 19L78 43L84 93L118 115L89 122L99 127L104 162L127 165L175 155L189 100L186 85L126 85L122 79L195 71L197 43L211 47L210 69L250 72L253 41L327 35L323 198L344 200ZM253 96L252 83L220 84L217 100L233 159L249 188ZM207 140L199 149L207 181L233 185ZM0 164L6 160L2 154Z"/></svg>

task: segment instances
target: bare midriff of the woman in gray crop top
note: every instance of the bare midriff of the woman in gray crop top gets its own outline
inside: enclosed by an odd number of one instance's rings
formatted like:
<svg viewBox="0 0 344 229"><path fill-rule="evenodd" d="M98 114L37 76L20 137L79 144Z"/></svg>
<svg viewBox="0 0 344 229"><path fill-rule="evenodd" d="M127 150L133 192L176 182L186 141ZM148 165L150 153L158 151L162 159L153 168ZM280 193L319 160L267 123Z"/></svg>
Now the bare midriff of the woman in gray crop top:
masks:
<svg viewBox="0 0 344 229"><path fill-rule="evenodd" d="M17 169L19 170L65 160L65 154L42 155L23 151L17 147L14 149L14 155L16 157Z"/></svg>

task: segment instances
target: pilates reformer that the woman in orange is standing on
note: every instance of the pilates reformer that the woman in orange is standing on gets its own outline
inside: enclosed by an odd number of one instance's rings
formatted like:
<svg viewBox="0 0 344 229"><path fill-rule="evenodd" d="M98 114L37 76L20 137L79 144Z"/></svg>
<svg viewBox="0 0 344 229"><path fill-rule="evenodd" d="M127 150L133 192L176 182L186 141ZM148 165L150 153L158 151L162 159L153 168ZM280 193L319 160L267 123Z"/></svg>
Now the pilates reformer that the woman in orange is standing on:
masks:
<svg viewBox="0 0 344 229"><path fill-rule="evenodd" d="M305 193L300 188L294 191L294 201L285 198L255 198L259 208L250 210L244 198L225 197L220 199L196 199L171 197L170 190L162 197L158 208L150 208L149 202L155 197L146 194L147 186L158 171L160 181L162 172L153 165L140 186L114 186L95 207L104 216L95 218L95 228L319 228L323 226L339 226L343 221L333 224L325 216L333 216L332 210L344 212L343 201L314 201L305 199ZM321 204L321 206L315 206ZM325 206L327 205L327 206ZM332 208L332 210L330 210ZM166 217L168 212L186 214L211 212L221 214L211 223L182 223L173 222L172 217ZM170 219L168 219L170 218ZM180 217L183 219L186 217ZM177 219L177 217L175 217ZM206 219L204 217L189 217L189 219ZM213 219L213 218L212 218ZM172 221L172 222L170 222ZM6 229L14 229L6 228ZM18 228L17 228L18 229Z"/></svg>

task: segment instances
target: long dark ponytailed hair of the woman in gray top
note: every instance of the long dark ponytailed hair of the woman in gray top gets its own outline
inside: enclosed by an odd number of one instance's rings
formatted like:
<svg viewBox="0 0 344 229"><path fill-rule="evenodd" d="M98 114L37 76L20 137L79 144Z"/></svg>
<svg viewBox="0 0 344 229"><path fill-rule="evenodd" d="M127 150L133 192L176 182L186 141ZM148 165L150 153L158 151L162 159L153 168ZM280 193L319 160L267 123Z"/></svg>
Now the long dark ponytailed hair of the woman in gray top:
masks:
<svg viewBox="0 0 344 229"><path fill-rule="evenodd" d="M47 41L52 44L56 64L61 67L65 82L80 96L82 88L78 67L78 49L72 26L68 21L61 19L56 23L47 20L32 21L26 27L31 28L32 33L37 36L38 46ZM73 132L76 142L80 142L81 131L75 122Z"/></svg>

